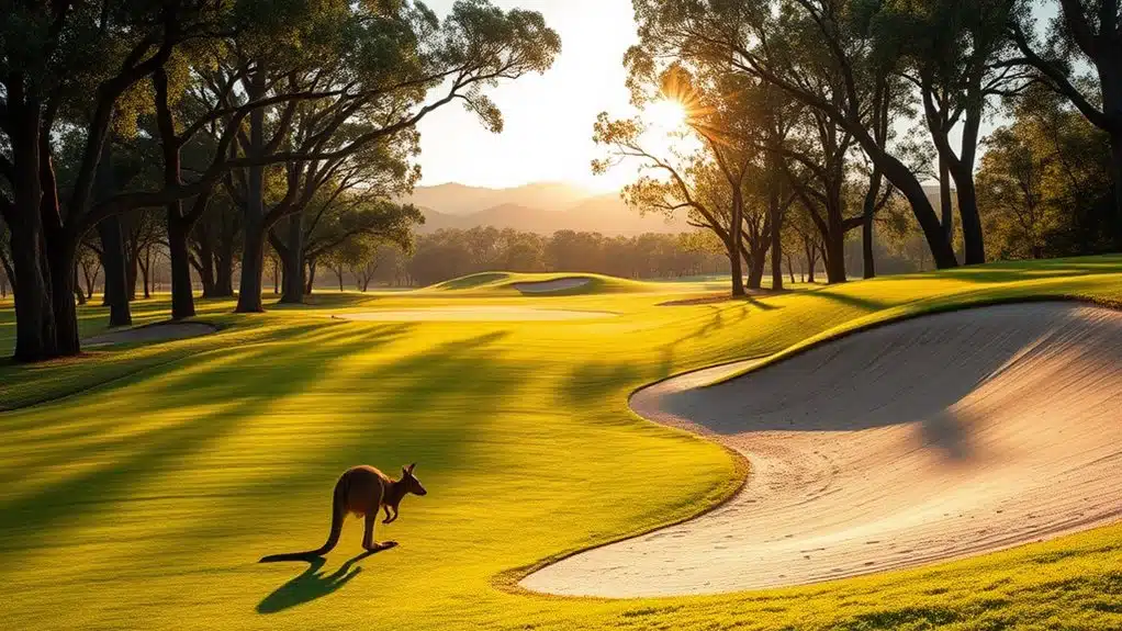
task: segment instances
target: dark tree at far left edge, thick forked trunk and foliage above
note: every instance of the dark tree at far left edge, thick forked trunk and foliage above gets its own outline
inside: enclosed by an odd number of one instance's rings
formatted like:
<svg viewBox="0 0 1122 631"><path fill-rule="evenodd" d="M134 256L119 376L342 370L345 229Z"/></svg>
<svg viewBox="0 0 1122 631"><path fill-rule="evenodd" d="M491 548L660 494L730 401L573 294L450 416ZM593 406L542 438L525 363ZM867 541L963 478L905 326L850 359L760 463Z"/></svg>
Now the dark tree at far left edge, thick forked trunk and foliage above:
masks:
<svg viewBox="0 0 1122 631"><path fill-rule="evenodd" d="M74 266L85 232L110 213L94 179L118 101L181 43L220 28L221 0L4 2L0 20L0 214L12 231L18 360L79 351ZM63 128L66 129L63 129ZM59 195L53 158L81 138Z"/></svg>

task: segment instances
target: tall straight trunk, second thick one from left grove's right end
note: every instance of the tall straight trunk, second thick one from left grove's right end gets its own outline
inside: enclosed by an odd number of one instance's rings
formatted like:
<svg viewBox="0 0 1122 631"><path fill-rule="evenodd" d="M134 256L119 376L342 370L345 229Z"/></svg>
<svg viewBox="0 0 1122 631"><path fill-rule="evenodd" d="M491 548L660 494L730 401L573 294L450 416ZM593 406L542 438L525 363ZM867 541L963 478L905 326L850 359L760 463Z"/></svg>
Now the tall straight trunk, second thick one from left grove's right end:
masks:
<svg viewBox="0 0 1122 631"><path fill-rule="evenodd" d="M265 95L266 66L258 63L250 89L250 100ZM265 110L249 114L249 157L260 158L265 150ZM241 286L234 313L261 313L261 276L265 266L265 169L251 166L246 176L245 245L241 253Z"/></svg>

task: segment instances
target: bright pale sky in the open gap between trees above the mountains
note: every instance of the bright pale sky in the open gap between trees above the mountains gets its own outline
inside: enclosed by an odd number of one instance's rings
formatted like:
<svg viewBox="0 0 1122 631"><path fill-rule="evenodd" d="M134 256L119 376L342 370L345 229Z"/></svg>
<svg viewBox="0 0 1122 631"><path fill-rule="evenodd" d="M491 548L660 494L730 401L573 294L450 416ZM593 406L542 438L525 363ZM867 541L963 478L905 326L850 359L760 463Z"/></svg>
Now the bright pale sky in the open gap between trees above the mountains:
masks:
<svg viewBox="0 0 1122 631"><path fill-rule="evenodd" d="M631 0L491 0L504 9L541 11L561 36L561 55L544 75L527 75L490 90L503 110L503 133L484 130L473 114L448 105L420 124L421 184L459 182L517 186L565 180L614 189L631 177L623 169L594 176L592 122L607 110L631 112L623 56L635 43ZM444 16L452 0L427 0Z"/></svg>

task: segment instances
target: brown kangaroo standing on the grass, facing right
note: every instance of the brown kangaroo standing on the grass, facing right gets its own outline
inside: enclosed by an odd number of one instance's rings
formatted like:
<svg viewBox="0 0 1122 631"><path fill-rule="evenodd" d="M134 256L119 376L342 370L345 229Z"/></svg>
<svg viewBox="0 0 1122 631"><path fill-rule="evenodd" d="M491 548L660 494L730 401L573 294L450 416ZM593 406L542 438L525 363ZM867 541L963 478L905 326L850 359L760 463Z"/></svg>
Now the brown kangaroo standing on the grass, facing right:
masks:
<svg viewBox="0 0 1122 631"><path fill-rule="evenodd" d="M362 547L371 553L392 548L395 541L374 541L374 522L378 519L378 510L386 511L386 519L383 523L390 523L397 519L397 505L406 493L424 495L429 492L421 485L421 481L413 475L416 463L402 467L402 479L392 480L385 473L369 465L358 465L348 468L335 482L335 490L331 497L331 533L328 541L319 549L305 553L288 553L283 555L269 555L263 557L258 563L269 563L274 560L304 560L309 557L318 557L331 551L339 542L339 535L343 530L343 518L348 512L366 518L366 531L362 535ZM390 516L390 511L393 514Z"/></svg>

